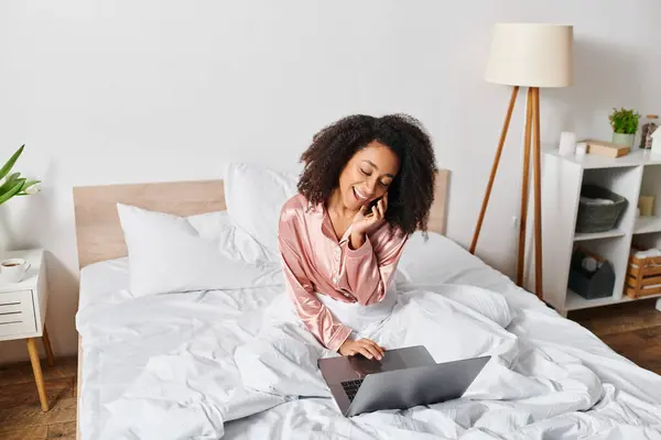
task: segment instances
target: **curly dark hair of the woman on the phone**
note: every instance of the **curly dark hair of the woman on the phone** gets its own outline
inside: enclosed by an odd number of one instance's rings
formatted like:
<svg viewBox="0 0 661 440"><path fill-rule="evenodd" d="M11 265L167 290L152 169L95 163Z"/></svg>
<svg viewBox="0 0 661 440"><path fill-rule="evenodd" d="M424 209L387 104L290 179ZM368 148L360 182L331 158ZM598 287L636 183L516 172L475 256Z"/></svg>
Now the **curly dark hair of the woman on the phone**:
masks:
<svg viewBox="0 0 661 440"><path fill-rule="evenodd" d="M436 160L429 134L408 114L354 114L324 128L301 156L305 166L299 191L313 205L325 202L349 160L372 141L390 147L400 161L400 170L388 188L386 221L407 234L426 232Z"/></svg>

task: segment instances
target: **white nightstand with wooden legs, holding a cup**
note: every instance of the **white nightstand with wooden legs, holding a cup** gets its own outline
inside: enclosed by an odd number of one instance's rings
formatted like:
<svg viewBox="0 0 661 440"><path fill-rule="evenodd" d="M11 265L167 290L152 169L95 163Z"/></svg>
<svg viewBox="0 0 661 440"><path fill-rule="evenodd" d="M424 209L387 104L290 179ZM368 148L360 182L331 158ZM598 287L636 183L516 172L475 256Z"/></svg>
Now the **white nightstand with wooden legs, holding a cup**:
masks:
<svg viewBox="0 0 661 440"><path fill-rule="evenodd" d="M0 252L0 261L6 258L26 260L31 267L20 283L7 283L0 276L0 341L28 341L39 399L42 409L47 411L48 398L36 348L36 338L43 338L48 365L53 366L53 350L45 326L48 289L44 252L41 249Z"/></svg>

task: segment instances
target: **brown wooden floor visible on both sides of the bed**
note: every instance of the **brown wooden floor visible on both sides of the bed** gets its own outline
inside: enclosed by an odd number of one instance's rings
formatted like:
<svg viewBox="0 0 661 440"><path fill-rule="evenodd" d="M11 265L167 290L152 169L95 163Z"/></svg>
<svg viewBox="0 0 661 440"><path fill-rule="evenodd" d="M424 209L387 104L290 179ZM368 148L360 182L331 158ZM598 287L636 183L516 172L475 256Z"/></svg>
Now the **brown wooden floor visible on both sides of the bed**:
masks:
<svg viewBox="0 0 661 440"><path fill-rule="evenodd" d="M581 322L616 352L661 374L661 312L653 300L579 310ZM0 366L0 440L75 439L76 359L42 362L51 410L42 413L29 363Z"/></svg>

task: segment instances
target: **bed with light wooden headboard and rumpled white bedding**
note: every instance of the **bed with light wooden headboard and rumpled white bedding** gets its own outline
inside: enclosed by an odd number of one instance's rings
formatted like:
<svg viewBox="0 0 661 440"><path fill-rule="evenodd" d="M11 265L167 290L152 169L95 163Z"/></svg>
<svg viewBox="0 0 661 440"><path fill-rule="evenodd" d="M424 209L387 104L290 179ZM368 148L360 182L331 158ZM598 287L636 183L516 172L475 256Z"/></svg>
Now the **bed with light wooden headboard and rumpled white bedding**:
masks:
<svg viewBox="0 0 661 440"><path fill-rule="evenodd" d="M224 182L75 188L77 438L661 438L661 377L445 238L447 180L441 170L429 240L415 233L400 262L394 330L379 331L402 345L432 333L440 362L479 353L494 362L462 399L355 418L339 414L312 367L330 354L268 326L285 307L281 284L144 297L129 289L117 204L216 212L224 222Z"/></svg>

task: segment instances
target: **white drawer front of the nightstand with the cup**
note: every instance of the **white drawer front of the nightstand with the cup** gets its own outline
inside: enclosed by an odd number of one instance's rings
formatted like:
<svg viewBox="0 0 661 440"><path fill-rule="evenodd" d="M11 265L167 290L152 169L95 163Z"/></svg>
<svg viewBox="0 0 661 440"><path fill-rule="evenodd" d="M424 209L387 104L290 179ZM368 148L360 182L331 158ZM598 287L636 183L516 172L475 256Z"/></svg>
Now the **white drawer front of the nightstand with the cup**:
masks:
<svg viewBox="0 0 661 440"><path fill-rule="evenodd" d="M35 330L32 290L0 293L0 337Z"/></svg>

